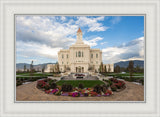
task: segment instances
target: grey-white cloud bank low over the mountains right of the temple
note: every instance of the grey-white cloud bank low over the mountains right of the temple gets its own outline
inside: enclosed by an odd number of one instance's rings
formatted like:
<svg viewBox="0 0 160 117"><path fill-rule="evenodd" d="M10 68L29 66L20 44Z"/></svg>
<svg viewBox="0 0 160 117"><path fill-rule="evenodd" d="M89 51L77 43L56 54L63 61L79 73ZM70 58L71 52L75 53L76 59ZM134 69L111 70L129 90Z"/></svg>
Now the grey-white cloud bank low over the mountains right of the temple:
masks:
<svg viewBox="0 0 160 117"><path fill-rule="evenodd" d="M144 60L144 37L140 37L117 47L102 49L102 52L104 63Z"/></svg>

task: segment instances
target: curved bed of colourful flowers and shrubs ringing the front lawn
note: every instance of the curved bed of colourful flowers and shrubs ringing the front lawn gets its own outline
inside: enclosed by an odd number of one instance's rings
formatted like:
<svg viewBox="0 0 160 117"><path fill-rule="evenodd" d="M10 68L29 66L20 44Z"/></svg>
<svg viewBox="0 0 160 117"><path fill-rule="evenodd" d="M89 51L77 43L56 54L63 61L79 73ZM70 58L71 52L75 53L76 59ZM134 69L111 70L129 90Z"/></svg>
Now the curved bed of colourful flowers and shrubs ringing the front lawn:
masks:
<svg viewBox="0 0 160 117"><path fill-rule="evenodd" d="M62 83L63 82L63 83ZM66 83L67 82L67 83ZM125 82L111 78L109 80L97 81L94 86L88 85L93 81L88 81L88 84L83 81L76 84L78 81L56 81L52 79L43 79L37 81L37 88L47 94L57 96L72 96L72 97L88 97L88 96L110 96L114 91L124 89ZM73 84L74 83L74 84ZM76 84L76 85L75 85ZM88 87L87 87L88 86ZM90 87L89 87L90 86Z"/></svg>

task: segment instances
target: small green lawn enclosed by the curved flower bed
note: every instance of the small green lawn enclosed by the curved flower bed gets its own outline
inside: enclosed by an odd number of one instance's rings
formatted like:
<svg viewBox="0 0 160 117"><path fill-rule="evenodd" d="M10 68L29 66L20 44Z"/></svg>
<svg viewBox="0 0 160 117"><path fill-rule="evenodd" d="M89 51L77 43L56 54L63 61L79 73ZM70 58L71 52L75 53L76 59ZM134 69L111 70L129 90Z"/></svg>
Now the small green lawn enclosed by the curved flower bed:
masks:
<svg viewBox="0 0 160 117"><path fill-rule="evenodd" d="M84 87L94 87L98 84L104 84L104 82L100 80L60 80L56 84L60 86L62 86L63 84L71 84L73 87L78 87L80 83L83 84Z"/></svg>

